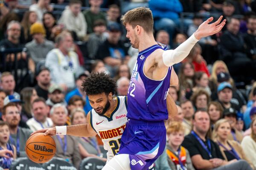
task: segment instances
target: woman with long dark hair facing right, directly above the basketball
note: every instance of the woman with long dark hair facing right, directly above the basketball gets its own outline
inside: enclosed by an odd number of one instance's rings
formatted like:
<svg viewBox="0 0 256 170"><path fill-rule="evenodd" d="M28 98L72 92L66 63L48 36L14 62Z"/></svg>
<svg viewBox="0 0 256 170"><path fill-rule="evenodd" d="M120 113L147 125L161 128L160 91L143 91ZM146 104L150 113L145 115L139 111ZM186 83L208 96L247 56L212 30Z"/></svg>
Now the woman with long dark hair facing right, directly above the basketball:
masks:
<svg viewBox="0 0 256 170"><path fill-rule="evenodd" d="M32 113L32 102L38 98L38 95L35 91L35 88L26 87L20 91L20 99L23 101L21 119L23 122L27 122L28 119L31 119Z"/></svg>

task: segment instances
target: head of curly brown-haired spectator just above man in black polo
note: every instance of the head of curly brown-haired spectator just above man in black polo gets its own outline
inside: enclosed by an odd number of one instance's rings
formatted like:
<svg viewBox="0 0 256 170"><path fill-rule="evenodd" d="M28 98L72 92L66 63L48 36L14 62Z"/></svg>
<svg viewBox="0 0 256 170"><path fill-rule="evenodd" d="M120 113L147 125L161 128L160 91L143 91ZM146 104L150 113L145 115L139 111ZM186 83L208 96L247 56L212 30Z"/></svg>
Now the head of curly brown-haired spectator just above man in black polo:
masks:
<svg viewBox="0 0 256 170"><path fill-rule="evenodd" d="M195 109L198 110L207 109L207 105L210 102L211 98L207 91L199 88L192 94L190 100L193 103Z"/></svg>

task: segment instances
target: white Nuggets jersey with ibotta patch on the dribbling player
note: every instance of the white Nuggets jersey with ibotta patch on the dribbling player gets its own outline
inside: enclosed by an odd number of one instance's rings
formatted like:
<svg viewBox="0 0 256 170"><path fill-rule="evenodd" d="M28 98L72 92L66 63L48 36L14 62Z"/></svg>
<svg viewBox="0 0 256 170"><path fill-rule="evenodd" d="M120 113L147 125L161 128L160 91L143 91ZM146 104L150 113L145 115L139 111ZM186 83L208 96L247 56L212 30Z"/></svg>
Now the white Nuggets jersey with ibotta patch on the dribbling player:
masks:
<svg viewBox="0 0 256 170"><path fill-rule="evenodd" d="M90 125L98 133L108 150L108 161L116 155L121 144L121 136L127 122L127 96L117 96L115 110L108 116L99 116L94 109L90 111Z"/></svg>

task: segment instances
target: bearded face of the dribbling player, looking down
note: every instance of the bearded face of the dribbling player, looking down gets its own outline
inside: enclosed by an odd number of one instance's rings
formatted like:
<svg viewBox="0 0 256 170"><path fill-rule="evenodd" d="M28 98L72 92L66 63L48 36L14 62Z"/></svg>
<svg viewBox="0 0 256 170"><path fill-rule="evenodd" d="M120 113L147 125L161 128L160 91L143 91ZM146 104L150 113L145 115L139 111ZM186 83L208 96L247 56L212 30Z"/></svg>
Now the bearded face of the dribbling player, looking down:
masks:
<svg viewBox="0 0 256 170"><path fill-rule="evenodd" d="M96 94L96 95L88 95L91 107L98 113L99 115L103 115L108 111L110 107L109 96L105 93Z"/></svg>

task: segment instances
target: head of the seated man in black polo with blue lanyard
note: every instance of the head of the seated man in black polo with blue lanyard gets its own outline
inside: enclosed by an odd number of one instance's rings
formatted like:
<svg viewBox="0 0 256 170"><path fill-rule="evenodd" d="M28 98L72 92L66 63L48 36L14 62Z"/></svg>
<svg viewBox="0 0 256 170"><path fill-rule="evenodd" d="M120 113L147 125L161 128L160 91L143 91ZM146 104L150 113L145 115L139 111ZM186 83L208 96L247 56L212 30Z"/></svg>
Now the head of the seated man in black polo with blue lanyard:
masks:
<svg viewBox="0 0 256 170"><path fill-rule="evenodd" d="M210 117L207 112L199 111L195 114L193 125L197 132L207 133L210 128Z"/></svg>

